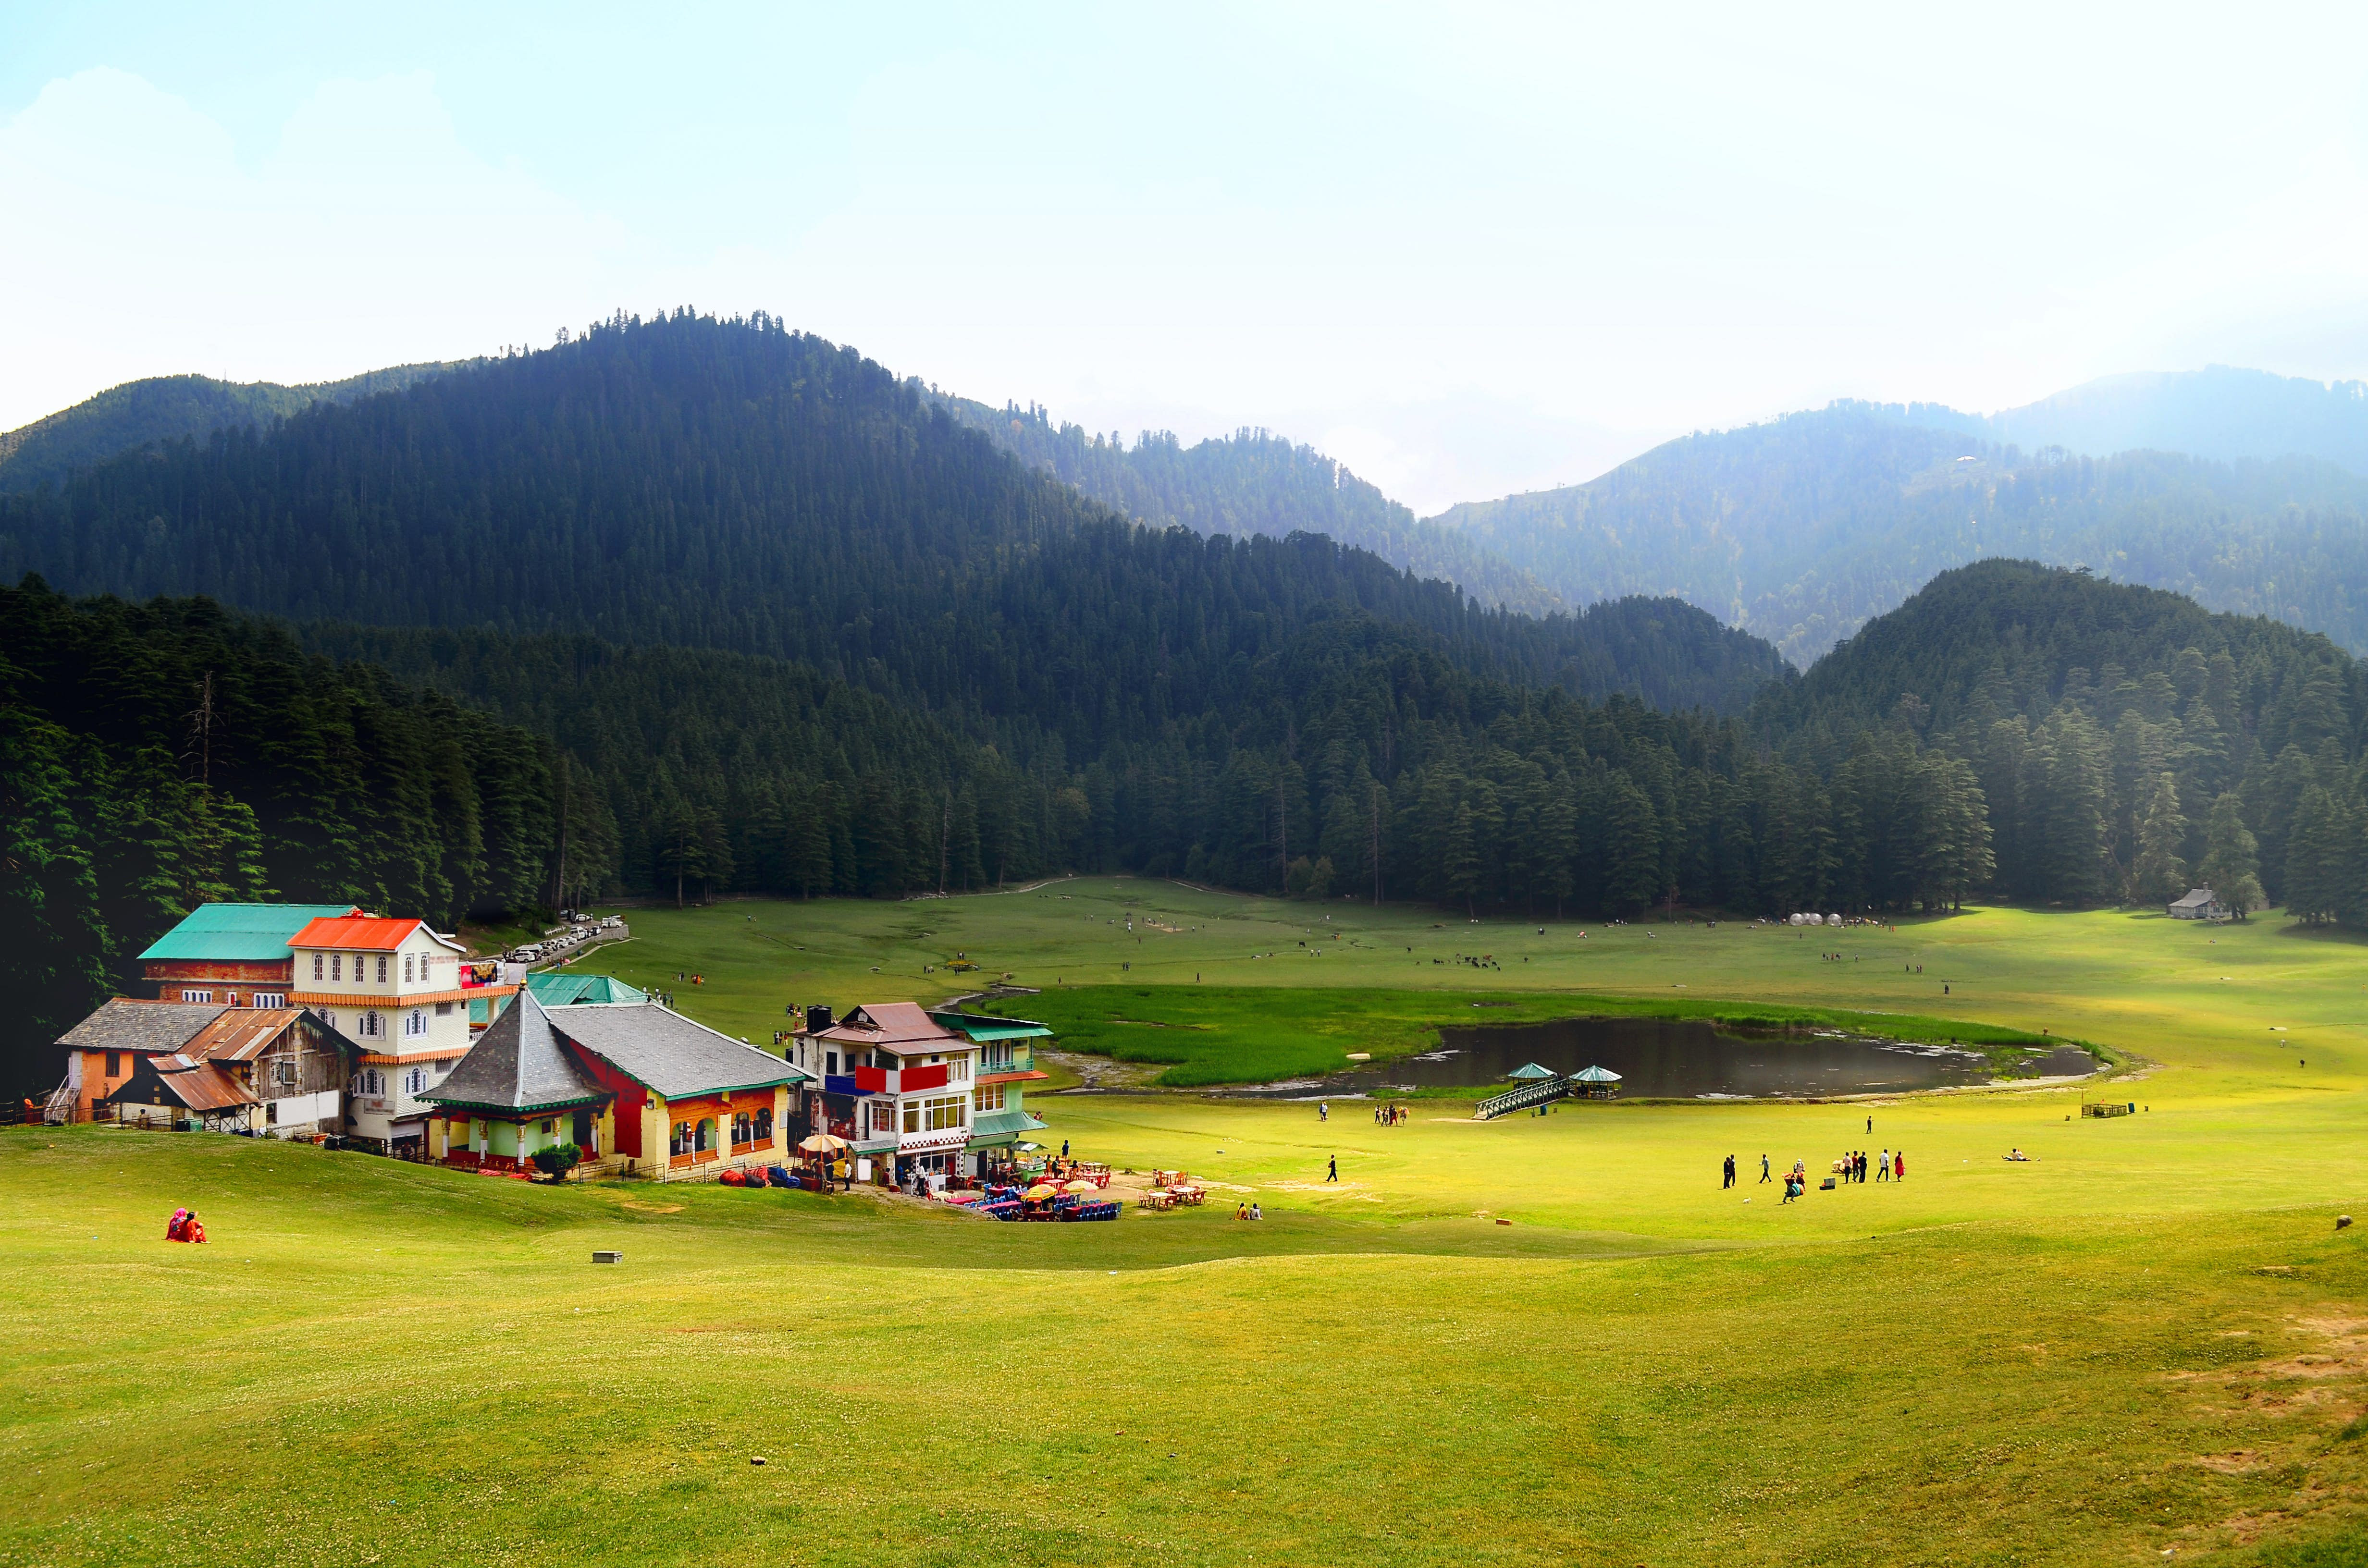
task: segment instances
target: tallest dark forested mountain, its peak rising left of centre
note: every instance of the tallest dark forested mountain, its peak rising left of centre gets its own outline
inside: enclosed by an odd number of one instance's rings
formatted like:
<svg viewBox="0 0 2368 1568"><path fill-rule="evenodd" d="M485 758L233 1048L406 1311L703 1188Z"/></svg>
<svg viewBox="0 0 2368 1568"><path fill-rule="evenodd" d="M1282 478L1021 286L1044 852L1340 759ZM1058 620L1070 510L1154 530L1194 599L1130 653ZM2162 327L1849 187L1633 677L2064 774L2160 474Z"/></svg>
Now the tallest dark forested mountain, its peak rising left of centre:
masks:
<svg viewBox="0 0 2368 1568"><path fill-rule="evenodd" d="M1532 621L1317 535L1141 528L855 351L689 313L0 497L0 578L21 571L296 621L798 658L1066 725L1075 748L1201 711L1324 604L1662 706L1740 711L1783 670L1677 604Z"/></svg>

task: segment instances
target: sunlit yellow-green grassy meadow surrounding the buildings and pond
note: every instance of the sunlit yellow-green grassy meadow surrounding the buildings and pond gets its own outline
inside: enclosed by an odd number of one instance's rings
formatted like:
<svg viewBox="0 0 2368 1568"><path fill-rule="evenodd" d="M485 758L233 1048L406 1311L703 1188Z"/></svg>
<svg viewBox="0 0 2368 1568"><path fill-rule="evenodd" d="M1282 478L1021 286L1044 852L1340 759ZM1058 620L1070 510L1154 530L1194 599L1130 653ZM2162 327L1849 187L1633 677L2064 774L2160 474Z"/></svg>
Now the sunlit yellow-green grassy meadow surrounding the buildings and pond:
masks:
<svg viewBox="0 0 2368 1568"><path fill-rule="evenodd" d="M758 1042L791 1002L966 990L966 950L1073 1047L1113 1004L1229 1035L1179 1066L1411 1049L1426 997L1624 997L2044 1028L2150 1108L1376 1127L1037 1094L1085 1153L1220 1184L1061 1227L7 1130L0 1563L2368 1563L2349 940L2010 910L1539 936L1122 879L632 921L590 966ZM1906 1182L1757 1184L1859 1146ZM211 1246L161 1241L178 1203Z"/></svg>

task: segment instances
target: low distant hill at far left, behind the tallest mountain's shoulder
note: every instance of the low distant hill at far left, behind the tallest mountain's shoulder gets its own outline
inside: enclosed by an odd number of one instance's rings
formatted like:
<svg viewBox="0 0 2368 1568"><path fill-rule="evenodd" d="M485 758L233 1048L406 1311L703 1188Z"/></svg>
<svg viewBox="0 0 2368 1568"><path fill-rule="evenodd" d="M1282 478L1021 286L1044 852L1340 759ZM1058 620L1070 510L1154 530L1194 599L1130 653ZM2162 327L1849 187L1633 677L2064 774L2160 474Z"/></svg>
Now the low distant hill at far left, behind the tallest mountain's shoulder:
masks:
<svg viewBox="0 0 2368 1568"><path fill-rule="evenodd" d="M204 438L234 424L270 424L315 403L353 403L443 374L450 365L393 365L343 381L279 386L213 377L149 377L111 386L33 424L0 433L0 490L38 490L76 469L161 441Z"/></svg>

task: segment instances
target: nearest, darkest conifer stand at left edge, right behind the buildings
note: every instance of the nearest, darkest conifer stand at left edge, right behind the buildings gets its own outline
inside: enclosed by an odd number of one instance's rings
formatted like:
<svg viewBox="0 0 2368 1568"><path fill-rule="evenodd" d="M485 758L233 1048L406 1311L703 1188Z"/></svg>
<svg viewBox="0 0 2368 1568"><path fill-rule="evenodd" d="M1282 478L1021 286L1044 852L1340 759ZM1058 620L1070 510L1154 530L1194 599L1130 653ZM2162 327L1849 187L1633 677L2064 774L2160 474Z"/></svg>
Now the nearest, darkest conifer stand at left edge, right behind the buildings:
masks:
<svg viewBox="0 0 2368 1568"><path fill-rule="evenodd" d="M0 587L0 1078L206 900L549 902L552 751L208 602Z"/></svg>

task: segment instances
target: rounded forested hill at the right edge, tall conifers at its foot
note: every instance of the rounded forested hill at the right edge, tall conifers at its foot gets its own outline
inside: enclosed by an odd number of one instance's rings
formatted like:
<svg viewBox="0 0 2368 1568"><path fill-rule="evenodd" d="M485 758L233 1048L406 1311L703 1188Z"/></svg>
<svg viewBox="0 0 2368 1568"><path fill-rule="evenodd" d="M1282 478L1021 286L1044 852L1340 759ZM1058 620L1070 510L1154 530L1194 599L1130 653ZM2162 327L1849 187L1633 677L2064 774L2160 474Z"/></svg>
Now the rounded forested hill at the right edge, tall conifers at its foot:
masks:
<svg viewBox="0 0 2368 1568"><path fill-rule="evenodd" d="M1750 725L1814 775L1902 739L1963 760L2008 898L2164 902L2193 879L2368 924L2368 666L2266 616L1980 561L1762 692Z"/></svg>

